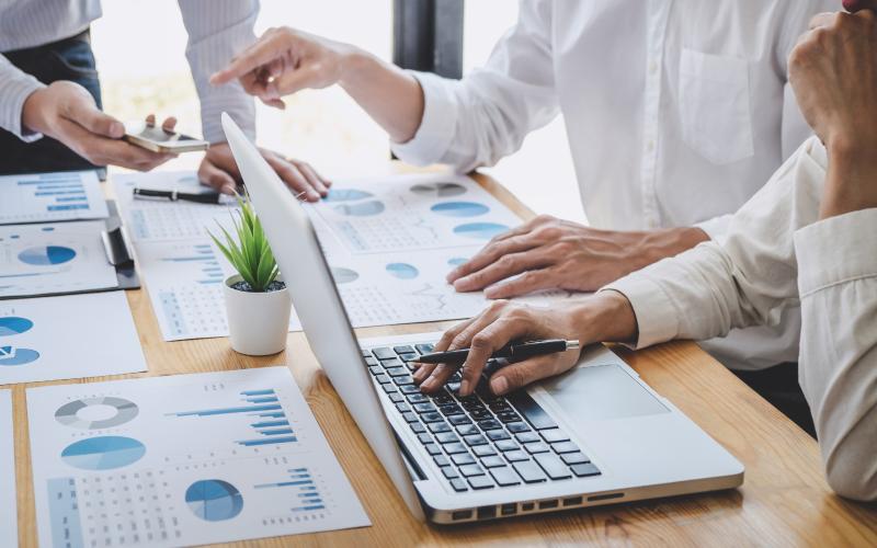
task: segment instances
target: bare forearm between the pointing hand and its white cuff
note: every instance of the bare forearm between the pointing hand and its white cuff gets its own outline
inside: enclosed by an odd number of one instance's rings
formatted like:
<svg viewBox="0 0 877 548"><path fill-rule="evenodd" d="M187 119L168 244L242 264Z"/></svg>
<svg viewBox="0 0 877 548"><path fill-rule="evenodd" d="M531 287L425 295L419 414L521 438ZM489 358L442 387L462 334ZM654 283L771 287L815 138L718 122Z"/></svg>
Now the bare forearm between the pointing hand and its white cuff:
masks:
<svg viewBox="0 0 877 548"><path fill-rule="evenodd" d="M344 56L339 83L396 142L414 137L423 117L423 91L402 69L362 50Z"/></svg>

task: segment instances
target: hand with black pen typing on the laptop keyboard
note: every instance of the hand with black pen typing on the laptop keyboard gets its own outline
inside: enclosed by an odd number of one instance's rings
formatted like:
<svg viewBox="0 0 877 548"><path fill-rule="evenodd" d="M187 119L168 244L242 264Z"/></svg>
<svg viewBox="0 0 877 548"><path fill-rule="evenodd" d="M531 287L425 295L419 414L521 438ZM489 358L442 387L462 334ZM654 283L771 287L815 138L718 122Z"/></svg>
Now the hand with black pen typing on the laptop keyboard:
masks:
<svg viewBox="0 0 877 548"><path fill-rule="evenodd" d="M479 316L447 330L435 344L435 352L470 349L459 386L459 395L468 396L478 385L490 355L512 341L567 339L578 340L584 346L597 341L628 341L636 334L634 309L616 292L600 292L582 302L553 308L498 300ZM506 365L490 377L490 390L500 396L563 373L576 365L579 354L579 351L558 352ZM419 364L413 377L424 392L433 392L456 369L449 364Z"/></svg>

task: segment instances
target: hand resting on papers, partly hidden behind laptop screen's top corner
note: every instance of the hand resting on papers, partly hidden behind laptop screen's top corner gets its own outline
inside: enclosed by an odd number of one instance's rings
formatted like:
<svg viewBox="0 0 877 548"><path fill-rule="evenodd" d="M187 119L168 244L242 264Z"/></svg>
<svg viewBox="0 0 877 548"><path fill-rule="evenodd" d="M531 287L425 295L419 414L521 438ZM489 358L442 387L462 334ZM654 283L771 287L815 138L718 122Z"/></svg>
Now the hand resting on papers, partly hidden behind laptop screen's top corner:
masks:
<svg viewBox="0 0 877 548"><path fill-rule="evenodd" d="M308 202L317 202L320 196L326 196L332 183L317 173L307 162L284 158L277 152L259 149L262 157L284 183L296 194L301 194ZM238 184L241 184L240 171L231 156L231 148L227 142L210 145L204 160L198 168L198 179L204 184L225 193L235 194Z"/></svg>

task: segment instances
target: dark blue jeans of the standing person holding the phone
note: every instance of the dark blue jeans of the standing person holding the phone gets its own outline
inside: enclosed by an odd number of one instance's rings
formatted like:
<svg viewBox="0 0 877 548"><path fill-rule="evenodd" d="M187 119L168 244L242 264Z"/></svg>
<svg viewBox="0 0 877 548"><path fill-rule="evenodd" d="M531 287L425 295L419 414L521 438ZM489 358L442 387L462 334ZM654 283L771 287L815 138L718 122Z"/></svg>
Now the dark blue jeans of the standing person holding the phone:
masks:
<svg viewBox="0 0 877 548"><path fill-rule="evenodd" d="M89 31L52 44L4 52L9 61L45 84L70 80L86 88L101 107L101 83ZM43 137L24 142L0 129L0 174L98 169L61 142Z"/></svg>

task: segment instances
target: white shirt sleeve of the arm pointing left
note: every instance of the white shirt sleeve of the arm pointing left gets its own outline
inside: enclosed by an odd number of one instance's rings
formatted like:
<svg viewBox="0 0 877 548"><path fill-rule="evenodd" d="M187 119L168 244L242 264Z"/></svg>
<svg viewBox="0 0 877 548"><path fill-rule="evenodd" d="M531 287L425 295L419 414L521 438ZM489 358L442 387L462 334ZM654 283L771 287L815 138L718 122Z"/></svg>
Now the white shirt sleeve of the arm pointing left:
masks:
<svg viewBox="0 0 877 548"><path fill-rule="evenodd" d="M466 172L521 148L531 130L559 112L550 28L550 2L523 1L517 23L483 68L458 81L412 72L423 90L423 117L411 140L391 144L396 156Z"/></svg>

